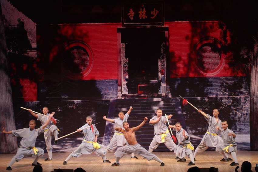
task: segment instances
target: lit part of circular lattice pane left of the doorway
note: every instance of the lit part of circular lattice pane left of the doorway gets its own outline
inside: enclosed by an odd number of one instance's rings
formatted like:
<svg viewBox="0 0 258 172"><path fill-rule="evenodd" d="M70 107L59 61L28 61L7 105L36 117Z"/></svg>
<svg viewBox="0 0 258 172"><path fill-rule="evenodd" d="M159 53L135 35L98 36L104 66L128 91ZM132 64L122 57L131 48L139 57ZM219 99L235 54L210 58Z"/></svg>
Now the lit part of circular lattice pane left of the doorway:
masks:
<svg viewBox="0 0 258 172"><path fill-rule="evenodd" d="M75 66L78 67L77 70L80 73L83 73L90 65L90 57L88 52L82 47L75 46L69 51L70 58L73 60Z"/></svg>

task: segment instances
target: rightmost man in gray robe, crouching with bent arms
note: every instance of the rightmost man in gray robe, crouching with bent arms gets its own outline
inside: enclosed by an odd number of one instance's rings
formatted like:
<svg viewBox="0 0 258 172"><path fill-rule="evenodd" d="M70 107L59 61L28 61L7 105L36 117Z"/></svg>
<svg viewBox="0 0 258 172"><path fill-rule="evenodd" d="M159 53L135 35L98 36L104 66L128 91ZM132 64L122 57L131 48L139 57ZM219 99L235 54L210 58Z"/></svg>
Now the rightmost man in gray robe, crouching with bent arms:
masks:
<svg viewBox="0 0 258 172"><path fill-rule="evenodd" d="M216 151L221 153L231 154L234 161L229 165L231 166L239 165L238 160L236 158L236 152L237 152L236 141L235 141L236 134L232 130L229 130L228 126L229 124L227 121L222 121L222 129L219 127L216 127L216 130L219 131L223 139L223 147L221 147L221 145L217 145ZM223 161L229 161L229 159L225 157Z"/></svg>

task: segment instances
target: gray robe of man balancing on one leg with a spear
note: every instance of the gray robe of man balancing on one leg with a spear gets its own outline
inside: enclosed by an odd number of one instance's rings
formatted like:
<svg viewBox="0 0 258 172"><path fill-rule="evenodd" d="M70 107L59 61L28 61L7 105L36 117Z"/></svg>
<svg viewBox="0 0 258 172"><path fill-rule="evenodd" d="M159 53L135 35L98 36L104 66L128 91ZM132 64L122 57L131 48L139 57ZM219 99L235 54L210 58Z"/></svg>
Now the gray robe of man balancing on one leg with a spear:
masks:
<svg viewBox="0 0 258 172"><path fill-rule="evenodd" d="M46 116L49 116L49 113L47 113ZM46 116L38 114L37 120L39 120L41 122L42 126L48 120L48 117L46 117ZM56 127L56 125L54 125L53 121L50 121L49 124L44 129L44 138L45 138L47 150L52 149L51 140L52 140L52 136L54 135L54 132L57 132L57 134L58 134L57 127Z"/></svg>

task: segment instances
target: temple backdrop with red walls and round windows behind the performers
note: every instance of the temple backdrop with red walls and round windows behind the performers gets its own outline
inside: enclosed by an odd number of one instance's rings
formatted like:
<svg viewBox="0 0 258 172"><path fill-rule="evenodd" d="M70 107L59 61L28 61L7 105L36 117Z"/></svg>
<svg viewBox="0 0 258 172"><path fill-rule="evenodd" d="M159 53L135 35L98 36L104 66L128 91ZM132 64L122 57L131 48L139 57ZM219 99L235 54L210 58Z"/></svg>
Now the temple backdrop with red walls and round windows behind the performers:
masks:
<svg viewBox="0 0 258 172"><path fill-rule="evenodd" d="M5 72L0 74L6 78L5 83L1 80L1 93L8 99L0 104L1 128L28 127L35 117L21 106L39 113L48 106L59 120L59 137L84 125L90 115L93 123L100 122L98 142L107 145L114 131L103 116L117 118L119 111L126 113L132 106L128 122L137 126L161 108L163 115L173 114L171 124L182 123L197 147L208 123L192 106L183 105L180 95L210 115L219 109L219 119L227 120L237 134L238 149L257 150L257 104L252 104L257 81L252 86L253 68L245 68L250 60L257 61L252 51L257 20L254 25L251 19L243 22L252 13L235 16L228 1L197 3L125 1L86 6L1 0L0 41L6 42L0 52L5 58L1 62ZM49 13L37 11L37 5ZM201 14L193 16L195 10ZM239 34L250 25L248 33ZM153 126L145 124L136 133L146 149L153 132ZM1 153L15 152L20 141L2 134L0 139ZM71 152L81 140L80 133L60 139L53 152ZM10 143L12 148L7 148ZM45 149L43 135L36 145ZM168 149L161 145L156 151Z"/></svg>

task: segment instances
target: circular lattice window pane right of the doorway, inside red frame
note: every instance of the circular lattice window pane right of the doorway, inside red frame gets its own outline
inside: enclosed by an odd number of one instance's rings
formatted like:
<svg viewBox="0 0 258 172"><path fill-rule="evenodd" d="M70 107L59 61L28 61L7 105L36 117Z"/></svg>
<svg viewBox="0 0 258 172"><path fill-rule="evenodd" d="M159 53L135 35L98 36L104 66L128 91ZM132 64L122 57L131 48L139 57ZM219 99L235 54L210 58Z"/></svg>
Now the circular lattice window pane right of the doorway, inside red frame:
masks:
<svg viewBox="0 0 258 172"><path fill-rule="evenodd" d="M213 43L205 43L198 49L196 58L203 71L215 70L220 64L220 49Z"/></svg>

